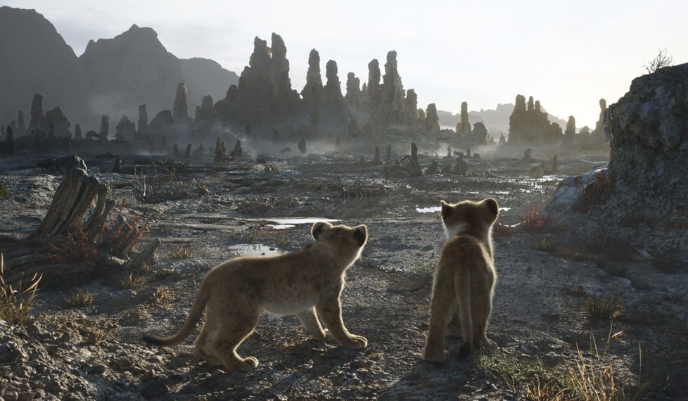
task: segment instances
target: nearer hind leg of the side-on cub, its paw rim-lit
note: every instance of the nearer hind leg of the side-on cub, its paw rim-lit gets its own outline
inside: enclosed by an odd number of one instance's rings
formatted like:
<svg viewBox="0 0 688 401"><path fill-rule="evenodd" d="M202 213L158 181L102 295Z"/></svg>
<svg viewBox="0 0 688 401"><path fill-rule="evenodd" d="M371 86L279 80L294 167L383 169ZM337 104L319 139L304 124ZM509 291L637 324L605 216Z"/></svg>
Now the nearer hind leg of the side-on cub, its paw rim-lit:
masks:
<svg viewBox="0 0 688 401"><path fill-rule="evenodd" d="M233 314L227 313L223 317L218 317L219 332L212 343L212 351L222 360L222 364L228 371L254 369L258 366L258 359L256 357L242 358L236 352L236 348L253 333L253 329L258 324L260 312L234 311Z"/></svg>

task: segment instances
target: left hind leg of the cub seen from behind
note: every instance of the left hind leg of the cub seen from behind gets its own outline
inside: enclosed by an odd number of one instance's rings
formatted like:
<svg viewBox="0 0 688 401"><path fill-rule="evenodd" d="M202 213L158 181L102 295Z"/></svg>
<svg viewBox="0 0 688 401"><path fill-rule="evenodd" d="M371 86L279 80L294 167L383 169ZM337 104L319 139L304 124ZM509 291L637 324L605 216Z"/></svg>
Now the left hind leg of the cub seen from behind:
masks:
<svg viewBox="0 0 688 401"><path fill-rule="evenodd" d="M456 311L457 298L454 295L453 280L435 279L430 303L428 337L425 347L421 350L421 357L426 361L441 363L449 357L449 352L445 351L445 333Z"/></svg>

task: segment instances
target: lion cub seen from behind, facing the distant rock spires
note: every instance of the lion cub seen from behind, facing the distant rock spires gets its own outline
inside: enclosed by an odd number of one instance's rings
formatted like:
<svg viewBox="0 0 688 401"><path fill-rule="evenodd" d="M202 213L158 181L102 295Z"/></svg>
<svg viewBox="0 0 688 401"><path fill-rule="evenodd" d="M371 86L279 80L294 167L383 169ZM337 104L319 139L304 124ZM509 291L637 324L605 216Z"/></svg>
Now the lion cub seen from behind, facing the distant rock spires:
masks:
<svg viewBox="0 0 688 401"><path fill-rule="evenodd" d="M421 352L428 362L447 359L445 331L450 323L450 334L463 337L459 359L467 357L476 345L497 347L485 331L497 279L491 237L499 206L494 199L440 203L447 242L435 269L428 338Z"/></svg>

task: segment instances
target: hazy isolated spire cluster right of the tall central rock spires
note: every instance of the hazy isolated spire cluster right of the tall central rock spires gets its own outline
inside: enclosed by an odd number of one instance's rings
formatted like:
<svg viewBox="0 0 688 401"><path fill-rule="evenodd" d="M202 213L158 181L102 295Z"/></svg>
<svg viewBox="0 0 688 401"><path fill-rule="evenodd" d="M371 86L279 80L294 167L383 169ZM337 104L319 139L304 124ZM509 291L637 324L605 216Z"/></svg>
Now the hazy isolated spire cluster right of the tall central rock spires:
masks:
<svg viewBox="0 0 688 401"><path fill-rule="evenodd" d="M561 127L547 120L540 101L533 102L533 96L530 96L526 109L525 96L516 96L514 112L509 117L509 142L552 143L559 141L562 135Z"/></svg>

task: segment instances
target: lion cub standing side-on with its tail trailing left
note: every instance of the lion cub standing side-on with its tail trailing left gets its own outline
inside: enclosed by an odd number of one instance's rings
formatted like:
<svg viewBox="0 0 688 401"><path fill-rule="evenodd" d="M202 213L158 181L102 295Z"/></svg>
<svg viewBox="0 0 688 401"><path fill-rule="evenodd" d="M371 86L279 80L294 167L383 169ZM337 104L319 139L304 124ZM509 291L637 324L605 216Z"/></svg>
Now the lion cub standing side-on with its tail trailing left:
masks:
<svg viewBox="0 0 688 401"><path fill-rule="evenodd" d="M308 335L317 340L331 336L347 348L365 348L368 340L344 326L340 294L345 271L361 255L368 229L318 222L311 234L316 242L295 252L238 257L218 265L200 284L181 330L167 338L144 336L144 340L159 346L181 343L207 308L196 348L210 364L222 364L228 371L249 371L258 366L258 360L240 357L236 348L253 333L260 312L267 310L296 314ZM320 326L316 311L327 331Z"/></svg>

